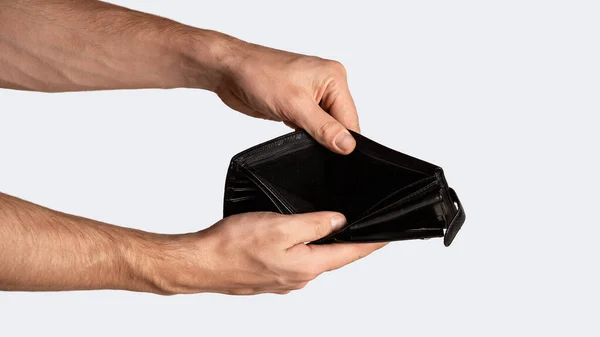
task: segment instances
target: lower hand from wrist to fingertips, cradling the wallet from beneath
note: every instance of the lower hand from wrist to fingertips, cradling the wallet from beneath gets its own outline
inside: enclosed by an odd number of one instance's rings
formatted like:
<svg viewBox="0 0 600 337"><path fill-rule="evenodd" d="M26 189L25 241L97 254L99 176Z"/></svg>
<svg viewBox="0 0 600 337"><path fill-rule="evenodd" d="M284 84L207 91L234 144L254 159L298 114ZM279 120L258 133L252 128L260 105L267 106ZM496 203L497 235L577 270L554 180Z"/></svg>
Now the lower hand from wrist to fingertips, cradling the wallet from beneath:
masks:
<svg viewBox="0 0 600 337"><path fill-rule="evenodd" d="M334 212L234 215L184 235L162 254L166 293L286 294L319 274L358 260L384 243L305 244L339 229Z"/></svg>

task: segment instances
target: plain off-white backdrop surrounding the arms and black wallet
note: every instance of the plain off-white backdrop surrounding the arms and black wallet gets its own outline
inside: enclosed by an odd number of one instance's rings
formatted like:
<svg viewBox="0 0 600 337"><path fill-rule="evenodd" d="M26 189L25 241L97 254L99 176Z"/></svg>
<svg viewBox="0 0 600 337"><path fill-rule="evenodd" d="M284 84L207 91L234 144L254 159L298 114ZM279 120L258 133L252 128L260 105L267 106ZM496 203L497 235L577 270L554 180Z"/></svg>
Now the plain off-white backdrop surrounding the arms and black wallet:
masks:
<svg viewBox="0 0 600 337"><path fill-rule="evenodd" d="M363 134L442 166L467 222L287 296L0 293L0 335L598 336L596 1L115 2L341 61ZM231 156L286 132L195 90L0 90L0 190L196 231Z"/></svg>

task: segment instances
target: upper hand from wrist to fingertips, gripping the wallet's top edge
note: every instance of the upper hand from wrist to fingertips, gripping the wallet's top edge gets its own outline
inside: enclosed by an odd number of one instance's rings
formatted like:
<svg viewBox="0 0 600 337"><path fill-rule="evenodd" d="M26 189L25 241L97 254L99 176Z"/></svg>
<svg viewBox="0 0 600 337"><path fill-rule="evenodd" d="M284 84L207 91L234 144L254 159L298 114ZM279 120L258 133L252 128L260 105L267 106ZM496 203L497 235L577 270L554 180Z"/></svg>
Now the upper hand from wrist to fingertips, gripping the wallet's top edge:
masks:
<svg viewBox="0 0 600 337"><path fill-rule="evenodd" d="M215 92L246 115L303 128L332 151L348 154L360 132L358 115L340 63L313 56L231 42L228 61Z"/></svg>

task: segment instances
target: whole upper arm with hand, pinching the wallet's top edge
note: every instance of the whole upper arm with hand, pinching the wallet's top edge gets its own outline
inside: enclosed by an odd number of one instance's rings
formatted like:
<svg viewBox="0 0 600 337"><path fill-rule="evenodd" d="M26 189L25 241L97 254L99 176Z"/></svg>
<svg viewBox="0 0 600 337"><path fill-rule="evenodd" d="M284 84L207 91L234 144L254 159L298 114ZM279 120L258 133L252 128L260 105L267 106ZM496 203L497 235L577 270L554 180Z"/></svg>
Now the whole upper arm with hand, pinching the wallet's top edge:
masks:
<svg viewBox="0 0 600 337"><path fill-rule="evenodd" d="M358 117L338 62L101 1L63 2L0 1L0 87L208 89L247 115L303 128L335 152L356 146L347 129L360 131Z"/></svg>

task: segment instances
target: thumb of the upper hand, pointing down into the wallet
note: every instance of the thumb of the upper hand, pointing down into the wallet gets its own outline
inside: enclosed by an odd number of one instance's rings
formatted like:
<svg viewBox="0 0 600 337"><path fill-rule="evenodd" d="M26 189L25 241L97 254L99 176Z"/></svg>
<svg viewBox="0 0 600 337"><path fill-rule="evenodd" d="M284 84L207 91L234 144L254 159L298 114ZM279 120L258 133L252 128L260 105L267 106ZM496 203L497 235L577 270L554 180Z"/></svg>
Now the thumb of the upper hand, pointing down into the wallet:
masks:
<svg viewBox="0 0 600 337"><path fill-rule="evenodd" d="M303 104L302 108L305 110L295 114L297 117L293 122L306 130L317 142L340 154L349 154L354 150L354 137L318 104L307 100L307 104Z"/></svg>

